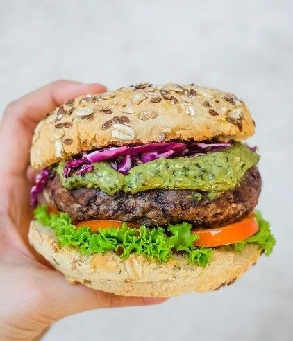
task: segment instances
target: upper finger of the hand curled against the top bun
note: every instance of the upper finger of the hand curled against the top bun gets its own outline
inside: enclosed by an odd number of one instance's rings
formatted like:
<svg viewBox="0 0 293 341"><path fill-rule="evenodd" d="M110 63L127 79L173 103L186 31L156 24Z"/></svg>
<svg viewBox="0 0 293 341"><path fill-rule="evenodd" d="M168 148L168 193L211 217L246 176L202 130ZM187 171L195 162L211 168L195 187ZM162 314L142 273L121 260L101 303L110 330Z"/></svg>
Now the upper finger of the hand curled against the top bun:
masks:
<svg viewBox="0 0 293 341"><path fill-rule="evenodd" d="M0 163L2 174L24 175L28 166L33 130L47 112L81 94L106 91L99 84L58 80L33 91L8 105L0 125Z"/></svg>

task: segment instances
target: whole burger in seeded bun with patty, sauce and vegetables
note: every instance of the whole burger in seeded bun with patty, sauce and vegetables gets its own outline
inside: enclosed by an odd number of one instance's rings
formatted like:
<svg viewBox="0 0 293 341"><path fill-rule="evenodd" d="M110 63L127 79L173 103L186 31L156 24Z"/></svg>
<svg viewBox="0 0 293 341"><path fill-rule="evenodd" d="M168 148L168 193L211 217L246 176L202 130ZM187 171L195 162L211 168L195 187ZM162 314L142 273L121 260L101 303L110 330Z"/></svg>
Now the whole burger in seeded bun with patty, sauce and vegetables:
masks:
<svg viewBox="0 0 293 341"><path fill-rule="evenodd" d="M141 83L80 96L31 147L31 245L70 283L170 297L239 279L275 239L255 211L254 132L234 94Z"/></svg>

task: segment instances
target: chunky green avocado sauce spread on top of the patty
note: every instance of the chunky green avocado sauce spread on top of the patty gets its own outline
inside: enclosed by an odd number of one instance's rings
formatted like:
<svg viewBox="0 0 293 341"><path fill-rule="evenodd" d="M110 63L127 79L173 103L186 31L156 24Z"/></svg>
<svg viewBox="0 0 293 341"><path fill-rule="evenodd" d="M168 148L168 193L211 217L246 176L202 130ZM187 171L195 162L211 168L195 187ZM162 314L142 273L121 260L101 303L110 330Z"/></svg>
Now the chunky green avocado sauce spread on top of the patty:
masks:
<svg viewBox="0 0 293 341"><path fill-rule="evenodd" d="M137 193L149 189L194 189L206 191L210 198L233 189L244 173L258 163L259 155L242 143L221 152L209 152L195 158L160 158L131 168L123 175L107 162L94 164L94 171L85 175L63 177L65 162L57 172L67 189L79 187L99 188L107 194L117 191Z"/></svg>

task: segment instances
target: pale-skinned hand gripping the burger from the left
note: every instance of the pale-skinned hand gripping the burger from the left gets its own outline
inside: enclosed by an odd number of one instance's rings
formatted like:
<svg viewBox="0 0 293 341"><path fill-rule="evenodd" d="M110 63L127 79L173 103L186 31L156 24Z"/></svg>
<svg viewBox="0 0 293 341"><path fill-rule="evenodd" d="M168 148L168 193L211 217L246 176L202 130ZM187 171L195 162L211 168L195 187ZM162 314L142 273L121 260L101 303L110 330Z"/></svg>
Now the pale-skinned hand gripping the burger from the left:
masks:
<svg viewBox="0 0 293 341"><path fill-rule="evenodd" d="M143 306L165 299L122 297L73 286L27 242L32 218L29 150L47 112L103 85L58 80L10 103L0 125L0 340L39 340L54 322L97 308Z"/></svg>

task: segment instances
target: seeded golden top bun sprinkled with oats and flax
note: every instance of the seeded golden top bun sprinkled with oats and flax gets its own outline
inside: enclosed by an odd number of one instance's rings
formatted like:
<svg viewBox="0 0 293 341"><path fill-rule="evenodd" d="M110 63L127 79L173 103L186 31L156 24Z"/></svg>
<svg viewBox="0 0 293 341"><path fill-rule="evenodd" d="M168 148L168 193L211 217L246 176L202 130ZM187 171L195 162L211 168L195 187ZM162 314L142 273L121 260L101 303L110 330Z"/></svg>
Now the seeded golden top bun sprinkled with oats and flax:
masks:
<svg viewBox="0 0 293 341"><path fill-rule="evenodd" d="M196 85L139 85L67 100L35 128L37 171L93 148L174 139L241 141L254 132L249 109L233 94Z"/></svg>

